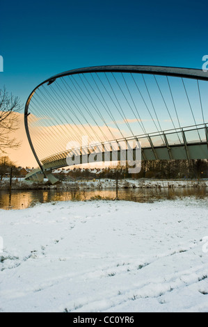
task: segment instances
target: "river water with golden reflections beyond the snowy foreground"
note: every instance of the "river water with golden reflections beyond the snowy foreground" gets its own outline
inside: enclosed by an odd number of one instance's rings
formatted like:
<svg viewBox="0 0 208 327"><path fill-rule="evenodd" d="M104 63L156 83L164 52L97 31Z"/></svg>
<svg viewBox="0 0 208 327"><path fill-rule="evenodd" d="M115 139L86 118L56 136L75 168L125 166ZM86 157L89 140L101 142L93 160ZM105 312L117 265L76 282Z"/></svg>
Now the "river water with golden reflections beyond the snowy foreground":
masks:
<svg viewBox="0 0 208 327"><path fill-rule="evenodd" d="M25 209L35 203L54 201L84 201L84 200L114 200L115 190L29 190L29 191L0 191L0 209ZM194 196L206 198L208 188L184 189L118 189L118 199L136 202L152 202L152 200L175 199L177 197Z"/></svg>

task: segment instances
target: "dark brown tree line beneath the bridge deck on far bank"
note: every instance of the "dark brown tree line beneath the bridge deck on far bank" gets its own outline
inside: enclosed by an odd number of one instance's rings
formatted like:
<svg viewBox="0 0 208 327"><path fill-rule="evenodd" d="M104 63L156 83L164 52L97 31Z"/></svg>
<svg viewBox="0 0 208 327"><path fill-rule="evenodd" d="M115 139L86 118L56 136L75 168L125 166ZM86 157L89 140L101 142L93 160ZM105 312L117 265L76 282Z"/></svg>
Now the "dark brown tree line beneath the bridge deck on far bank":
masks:
<svg viewBox="0 0 208 327"><path fill-rule="evenodd" d="M63 173L65 172L65 173ZM155 178L164 180L191 179L198 180L208 178L208 160L144 160L141 161L141 171L137 174L129 173L129 166L109 166L97 168L97 174L89 168L74 168L67 171L60 170L56 173L59 180L67 180L67 177L78 179L125 179L125 178Z"/></svg>

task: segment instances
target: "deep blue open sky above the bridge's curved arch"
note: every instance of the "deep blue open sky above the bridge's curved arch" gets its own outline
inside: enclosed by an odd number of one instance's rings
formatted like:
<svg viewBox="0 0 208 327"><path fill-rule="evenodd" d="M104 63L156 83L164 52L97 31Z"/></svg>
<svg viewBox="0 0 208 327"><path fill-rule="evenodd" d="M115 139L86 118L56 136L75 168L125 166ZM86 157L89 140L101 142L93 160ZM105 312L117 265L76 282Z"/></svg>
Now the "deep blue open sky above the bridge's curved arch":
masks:
<svg viewBox="0 0 208 327"><path fill-rule="evenodd" d="M3 1L0 86L25 104L53 74L94 65L202 67L205 1Z"/></svg>

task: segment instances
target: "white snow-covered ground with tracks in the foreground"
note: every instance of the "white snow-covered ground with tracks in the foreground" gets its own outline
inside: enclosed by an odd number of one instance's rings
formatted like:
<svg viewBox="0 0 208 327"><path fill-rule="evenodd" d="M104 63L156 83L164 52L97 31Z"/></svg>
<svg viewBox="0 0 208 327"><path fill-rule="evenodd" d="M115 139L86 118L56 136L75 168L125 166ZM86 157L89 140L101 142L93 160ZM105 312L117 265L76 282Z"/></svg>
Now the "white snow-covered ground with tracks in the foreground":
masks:
<svg viewBox="0 0 208 327"><path fill-rule="evenodd" d="M207 200L0 210L1 312L208 312Z"/></svg>

